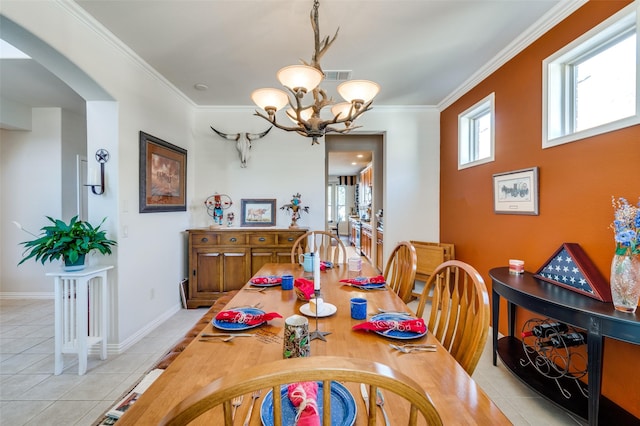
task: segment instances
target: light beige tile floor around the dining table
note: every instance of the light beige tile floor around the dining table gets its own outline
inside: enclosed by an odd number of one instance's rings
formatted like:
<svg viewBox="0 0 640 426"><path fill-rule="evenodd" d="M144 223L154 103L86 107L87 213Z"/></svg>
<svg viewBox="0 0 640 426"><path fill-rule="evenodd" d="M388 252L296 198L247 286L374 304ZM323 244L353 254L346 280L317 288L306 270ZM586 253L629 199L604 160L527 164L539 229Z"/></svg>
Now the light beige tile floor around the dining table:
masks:
<svg viewBox="0 0 640 426"><path fill-rule="evenodd" d="M65 355L63 373L54 376L53 301L0 300L0 424L95 424L204 312L181 310L105 361L90 355L84 376L77 374L77 357ZM530 391L503 365L494 367L490 344L473 378L515 425L583 424Z"/></svg>

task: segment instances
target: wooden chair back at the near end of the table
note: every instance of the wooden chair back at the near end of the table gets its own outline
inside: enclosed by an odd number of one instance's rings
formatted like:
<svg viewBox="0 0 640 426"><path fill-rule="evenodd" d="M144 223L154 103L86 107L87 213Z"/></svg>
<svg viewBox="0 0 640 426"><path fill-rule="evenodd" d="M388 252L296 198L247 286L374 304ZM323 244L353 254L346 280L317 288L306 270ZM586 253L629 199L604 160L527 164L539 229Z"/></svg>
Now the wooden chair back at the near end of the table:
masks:
<svg viewBox="0 0 640 426"><path fill-rule="evenodd" d="M232 371L185 398L171 409L160 421L160 425L186 425L203 413L220 405L222 405L224 412L224 424L232 425L231 401L234 397L245 395L244 399L247 400L246 396L249 396L253 391L264 390L261 392L264 395L271 389L273 391L274 426L281 426L281 407L284 403L281 398L281 386L300 381L321 381L323 389L330 389L332 381L347 384L364 383L369 386L369 395L376 395L377 389L384 389L389 392L389 396L397 400L398 403L394 407L398 407L400 409L398 412L408 418L408 425L417 423L418 413L422 414L429 425L442 424L442 419L431 399L412 378L389 366L373 361L358 358L313 356L281 359ZM389 396L387 399L390 399ZM318 400L318 407L321 407L322 411L321 421L325 426L331 425L330 398L331 392L323 392L323 399ZM400 401L399 398L404 401ZM255 403L258 408L260 407L259 401L251 402ZM375 425L376 416L379 413L375 396L369 399L368 414L366 410L358 409L356 411L360 418L366 416L369 425ZM257 415L257 413L253 413L254 418Z"/></svg>

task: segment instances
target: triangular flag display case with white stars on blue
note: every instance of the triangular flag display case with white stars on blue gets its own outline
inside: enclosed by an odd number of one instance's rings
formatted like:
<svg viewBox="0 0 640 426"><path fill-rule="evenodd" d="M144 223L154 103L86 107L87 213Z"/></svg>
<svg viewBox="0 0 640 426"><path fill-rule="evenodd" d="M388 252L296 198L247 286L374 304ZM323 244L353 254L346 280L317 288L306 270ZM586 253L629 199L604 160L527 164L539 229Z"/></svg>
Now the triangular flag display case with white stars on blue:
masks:
<svg viewBox="0 0 640 426"><path fill-rule="evenodd" d="M609 282L576 243L564 243L535 277L602 302L612 300Z"/></svg>

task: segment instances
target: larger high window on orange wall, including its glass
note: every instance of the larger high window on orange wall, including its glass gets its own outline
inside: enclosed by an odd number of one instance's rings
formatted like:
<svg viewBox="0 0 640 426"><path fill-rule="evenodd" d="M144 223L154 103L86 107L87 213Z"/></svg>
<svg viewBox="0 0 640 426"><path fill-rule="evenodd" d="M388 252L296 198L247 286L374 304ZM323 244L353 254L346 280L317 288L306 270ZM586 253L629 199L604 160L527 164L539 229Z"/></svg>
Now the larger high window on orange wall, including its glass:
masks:
<svg viewBox="0 0 640 426"><path fill-rule="evenodd" d="M640 123L637 7L545 59L543 148Z"/></svg>

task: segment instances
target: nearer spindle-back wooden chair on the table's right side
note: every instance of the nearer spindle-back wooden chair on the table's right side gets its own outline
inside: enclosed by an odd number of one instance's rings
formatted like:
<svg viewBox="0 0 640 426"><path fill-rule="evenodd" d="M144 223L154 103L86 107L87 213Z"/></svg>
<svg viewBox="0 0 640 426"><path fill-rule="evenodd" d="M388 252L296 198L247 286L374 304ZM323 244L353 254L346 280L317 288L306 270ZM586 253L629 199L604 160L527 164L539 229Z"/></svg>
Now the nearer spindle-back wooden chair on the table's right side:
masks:
<svg viewBox="0 0 640 426"><path fill-rule="evenodd" d="M489 333L489 294L471 265L449 260L426 282L416 315L422 317L429 294L427 328L469 375L473 373Z"/></svg>

